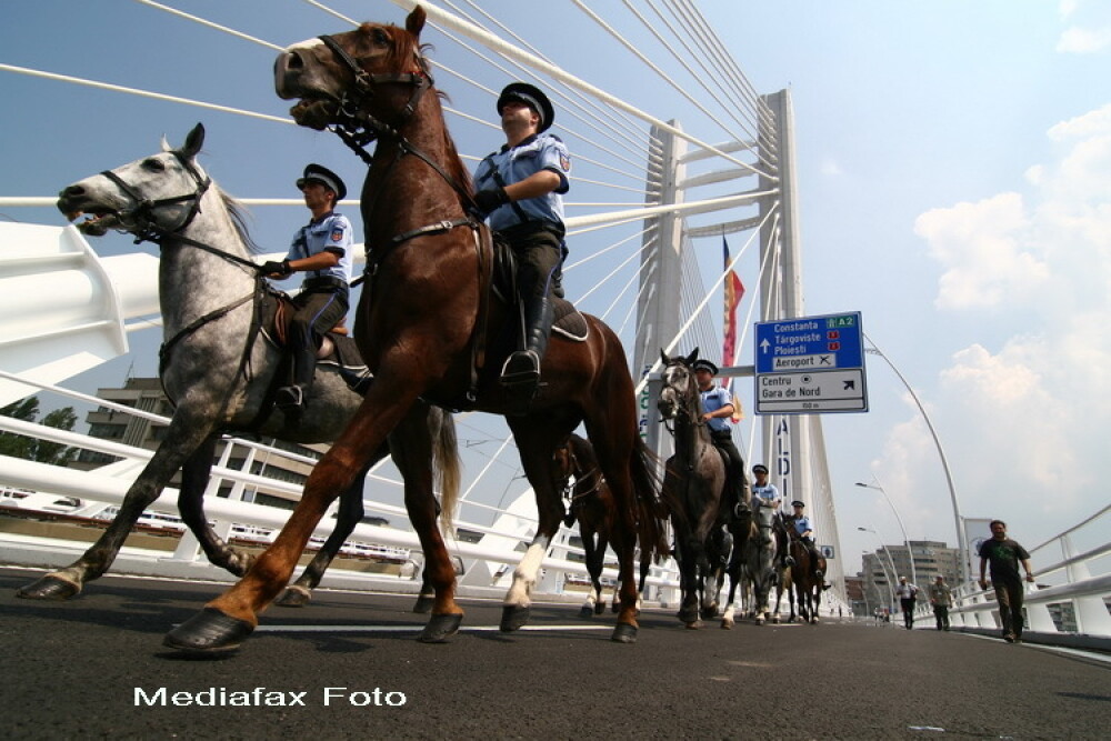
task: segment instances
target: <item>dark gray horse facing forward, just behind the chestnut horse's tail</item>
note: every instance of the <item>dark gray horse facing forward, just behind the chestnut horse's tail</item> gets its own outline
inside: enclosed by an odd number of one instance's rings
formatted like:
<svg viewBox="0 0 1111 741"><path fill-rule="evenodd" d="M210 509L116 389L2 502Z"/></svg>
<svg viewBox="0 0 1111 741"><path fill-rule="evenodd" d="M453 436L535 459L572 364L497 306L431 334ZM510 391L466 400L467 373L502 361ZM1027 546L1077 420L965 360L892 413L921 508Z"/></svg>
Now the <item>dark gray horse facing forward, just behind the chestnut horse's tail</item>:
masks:
<svg viewBox="0 0 1111 741"><path fill-rule="evenodd" d="M682 603L679 620L688 628L699 627L699 615L709 619L718 613L718 592L728 559L725 527L732 523L725 495L727 467L710 441L702 422L702 402L691 370L698 349L688 357L663 361L663 388L658 407L664 421L673 423L675 454L665 463L663 497L674 529L675 558ZM733 533L733 542L742 538Z"/></svg>

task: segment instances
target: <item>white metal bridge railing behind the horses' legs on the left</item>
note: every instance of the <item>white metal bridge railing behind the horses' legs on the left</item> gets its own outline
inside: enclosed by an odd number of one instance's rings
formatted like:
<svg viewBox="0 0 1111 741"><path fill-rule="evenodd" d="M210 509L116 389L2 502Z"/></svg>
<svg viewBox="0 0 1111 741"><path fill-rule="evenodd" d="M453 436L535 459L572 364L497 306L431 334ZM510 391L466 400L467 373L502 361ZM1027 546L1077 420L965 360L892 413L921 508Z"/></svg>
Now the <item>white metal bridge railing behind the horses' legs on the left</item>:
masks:
<svg viewBox="0 0 1111 741"><path fill-rule="evenodd" d="M8 375L8 373L4 373ZM58 387L34 383L26 378L20 378L20 382L47 388L51 392L71 395L73 398L88 401L88 397L74 392L68 392ZM104 408L110 408L120 413L141 414L146 418L169 422L168 419L131 409L126 405L114 404L109 401L98 400ZM23 459L0 455L0 489L22 490L31 492L47 492L57 497L76 498L83 504L89 502L102 502L107 504L120 504L139 471L150 460L152 451L130 445L120 444L110 440L92 438L86 434L58 430L42 424L26 422L10 417L0 417L0 431L14 434L37 438L39 440L57 442L63 445L71 445L84 450L107 453L118 457L121 460L97 469L93 471L81 471L72 468L49 465ZM230 439L236 445L243 445L250 449L248 455L243 458L243 469L229 468L227 455L212 469L211 481L206 491L204 509L209 521L217 532L227 538L232 532L233 527L256 532L277 531L289 517L289 510L278 507L243 501L246 492L280 493L299 495L301 488L284 481L279 481L269 477L252 474L249 469L259 455L268 455L272 461L274 458L286 458L301 463L311 464L313 461L296 453L261 444L259 442L233 438ZM230 450L230 445L228 448ZM400 487L401 482L392 480L371 471L368 475L368 483ZM216 492L222 487L231 487L230 497L217 497ZM370 494L371 487L368 487L367 494ZM166 491L151 504L148 511L162 512L166 514L177 514L176 489L167 488ZM250 494L247 495L250 499ZM11 498L0 503L12 503ZM364 497L364 507L368 511L387 515L408 524L408 517L403 508L391 505L384 502L374 501ZM82 508L87 510L88 507ZM468 531L480 535L478 542L464 542L449 534L447 538L449 551L458 559L462 565L460 587L464 591L468 588L486 591L487 589L504 590L512 579L512 569L517 565L523 552L523 544L527 544L536 531L534 505L531 502L531 491L527 491L518 500L504 509L487 508L496 511L496 519L492 525L476 522L459 521L456 527L459 531ZM327 538L331 531L334 520L330 517L334 512L334 507L329 515L321 520L316 535ZM543 578L538 584L538 591L548 594L559 594L564 591L569 578L578 583L583 583L588 577L585 564L569 557L577 555L581 559L582 549L571 544L570 538L577 534L578 529L561 528L554 540L554 544L549 551L549 557L543 562ZM43 547L40 544L36 549L28 549L28 558L21 560L19 555L12 557L13 549L19 551L21 539L12 538L0 532L0 542L4 543L4 560L9 563L22 563L27 565L58 567L69 563L72 560L74 548L61 549L54 558L43 557ZM340 584L351 585L362 582L371 582L369 588L390 589L392 583L399 591L411 591L416 589L413 581L418 578L416 567L422 560L420 542L416 532L398 527L384 527L361 523L356 527L354 532L348 543L356 545L386 547L393 552L412 552L407 568L398 570L393 575L381 573L368 574L344 570L341 564L333 564L324 577L323 585ZM23 543L26 544L26 543ZM80 545L83 550L84 545ZM373 550L373 548L371 548ZM32 551L36 553L32 555ZM197 578L208 578L224 580L230 578L217 567L208 564L196 539L186 533L172 557L161 557L153 559L137 558L132 554L130 559L123 554L118 563L117 570L126 570L136 573L148 573L156 575L191 575ZM615 582L618 572L615 569L607 568L603 571L603 580ZM668 560L662 565L653 565L647 581L649 594L653 599L661 599L667 602L673 600L673 590L678 589L678 573L674 570L672 560Z"/></svg>

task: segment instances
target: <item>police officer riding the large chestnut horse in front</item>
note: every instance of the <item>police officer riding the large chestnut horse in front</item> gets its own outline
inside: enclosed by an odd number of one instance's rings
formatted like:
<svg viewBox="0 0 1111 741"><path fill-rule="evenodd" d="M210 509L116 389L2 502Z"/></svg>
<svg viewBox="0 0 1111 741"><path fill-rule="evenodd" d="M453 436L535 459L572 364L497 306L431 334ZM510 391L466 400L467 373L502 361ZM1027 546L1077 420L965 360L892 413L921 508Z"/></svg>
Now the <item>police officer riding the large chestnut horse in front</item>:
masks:
<svg viewBox="0 0 1111 741"><path fill-rule="evenodd" d="M565 251L562 196L570 187L571 157L562 140L547 132L556 110L538 88L506 86L498 114L506 144L479 163L474 203L517 256L524 342L506 360L501 383L527 401L539 384L551 333L552 297Z"/></svg>

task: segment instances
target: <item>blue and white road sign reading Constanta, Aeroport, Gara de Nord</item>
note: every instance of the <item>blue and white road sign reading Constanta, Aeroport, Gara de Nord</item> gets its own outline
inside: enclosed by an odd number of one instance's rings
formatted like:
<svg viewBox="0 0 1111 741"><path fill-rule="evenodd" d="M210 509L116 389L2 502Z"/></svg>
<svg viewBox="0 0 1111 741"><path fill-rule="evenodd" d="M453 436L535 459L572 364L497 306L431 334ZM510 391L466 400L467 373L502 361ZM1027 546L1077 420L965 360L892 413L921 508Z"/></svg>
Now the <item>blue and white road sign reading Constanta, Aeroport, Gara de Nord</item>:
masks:
<svg viewBox="0 0 1111 741"><path fill-rule="evenodd" d="M868 411L860 312L758 322L758 414Z"/></svg>

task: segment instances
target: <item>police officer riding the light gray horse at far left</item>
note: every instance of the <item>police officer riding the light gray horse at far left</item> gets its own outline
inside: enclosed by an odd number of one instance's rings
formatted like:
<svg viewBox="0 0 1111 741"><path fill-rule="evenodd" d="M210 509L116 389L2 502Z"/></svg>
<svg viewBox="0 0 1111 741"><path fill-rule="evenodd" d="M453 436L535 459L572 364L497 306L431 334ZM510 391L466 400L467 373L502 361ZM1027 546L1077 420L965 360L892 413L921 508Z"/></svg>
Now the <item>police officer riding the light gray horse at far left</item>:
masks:
<svg viewBox="0 0 1111 741"><path fill-rule="evenodd" d="M297 180L312 220L293 236L284 260L266 262L261 270L274 278L304 272L301 292L293 298L296 313L290 320L287 347L290 352L290 383L278 389L276 402L287 410L303 408L312 389L317 350L321 339L347 317L351 282L351 222L336 212L347 196L338 174L320 164L306 166Z"/></svg>

